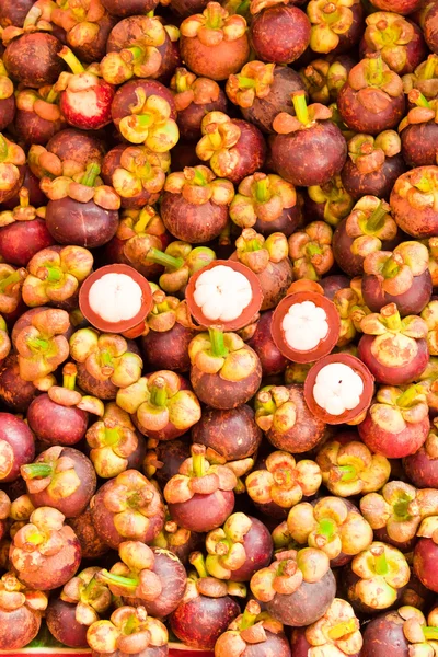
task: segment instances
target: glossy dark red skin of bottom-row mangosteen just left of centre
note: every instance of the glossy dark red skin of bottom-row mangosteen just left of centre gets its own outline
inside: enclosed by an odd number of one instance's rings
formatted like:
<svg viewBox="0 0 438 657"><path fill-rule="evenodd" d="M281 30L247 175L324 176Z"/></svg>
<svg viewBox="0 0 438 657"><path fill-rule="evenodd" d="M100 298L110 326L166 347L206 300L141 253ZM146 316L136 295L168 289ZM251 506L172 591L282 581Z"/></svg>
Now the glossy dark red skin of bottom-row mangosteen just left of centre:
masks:
<svg viewBox="0 0 438 657"><path fill-rule="evenodd" d="M219 636L237 615L239 604L230 598L198 596L182 602L170 615L172 632L191 648L212 650Z"/></svg>

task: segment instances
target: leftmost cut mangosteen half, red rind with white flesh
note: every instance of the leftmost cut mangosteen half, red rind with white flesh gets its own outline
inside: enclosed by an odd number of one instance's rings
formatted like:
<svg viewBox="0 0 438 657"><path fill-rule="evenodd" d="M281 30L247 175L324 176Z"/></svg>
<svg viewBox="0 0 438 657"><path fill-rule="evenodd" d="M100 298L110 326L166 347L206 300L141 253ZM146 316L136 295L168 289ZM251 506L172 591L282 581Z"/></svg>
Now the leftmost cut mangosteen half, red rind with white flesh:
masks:
<svg viewBox="0 0 438 657"><path fill-rule="evenodd" d="M152 290L129 265L107 265L85 279L79 292L79 308L94 328L137 337L152 310Z"/></svg>

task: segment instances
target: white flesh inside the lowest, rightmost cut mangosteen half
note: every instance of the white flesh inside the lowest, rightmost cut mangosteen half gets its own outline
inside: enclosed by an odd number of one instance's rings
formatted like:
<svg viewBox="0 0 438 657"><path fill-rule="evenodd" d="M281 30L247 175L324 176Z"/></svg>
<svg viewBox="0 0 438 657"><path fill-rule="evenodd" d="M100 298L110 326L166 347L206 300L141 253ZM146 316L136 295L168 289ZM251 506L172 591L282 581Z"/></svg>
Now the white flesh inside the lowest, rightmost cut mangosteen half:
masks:
<svg viewBox="0 0 438 657"><path fill-rule="evenodd" d="M360 403L364 381L354 369L343 362L331 362L316 376L313 399L330 415L342 415Z"/></svg>

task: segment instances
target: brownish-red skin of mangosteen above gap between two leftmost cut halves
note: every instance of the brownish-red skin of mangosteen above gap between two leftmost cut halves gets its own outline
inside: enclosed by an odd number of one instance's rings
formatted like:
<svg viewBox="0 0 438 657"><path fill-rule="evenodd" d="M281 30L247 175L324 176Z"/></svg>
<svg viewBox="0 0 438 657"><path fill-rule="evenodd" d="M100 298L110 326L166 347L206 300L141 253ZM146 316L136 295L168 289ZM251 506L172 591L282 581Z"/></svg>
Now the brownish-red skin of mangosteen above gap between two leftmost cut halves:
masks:
<svg viewBox="0 0 438 657"><path fill-rule="evenodd" d="M195 205L182 194L164 192L161 197L161 218L177 240L200 244L217 238L228 223L228 207L210 200Z"/></svg>

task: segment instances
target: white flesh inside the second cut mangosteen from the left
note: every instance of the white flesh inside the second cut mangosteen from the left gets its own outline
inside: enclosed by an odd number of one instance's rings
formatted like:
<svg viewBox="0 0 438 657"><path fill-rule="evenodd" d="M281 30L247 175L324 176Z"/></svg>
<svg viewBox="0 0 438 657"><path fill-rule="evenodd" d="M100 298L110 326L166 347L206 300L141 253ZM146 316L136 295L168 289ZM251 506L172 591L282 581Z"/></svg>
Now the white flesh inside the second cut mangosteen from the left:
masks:
<svg viewBox="0 0 438 657"><path fill-rule="evenodd" d="M200 274L193 297L208 320L231 322L250 306L253 291L246 276L226 265L217 265Z"/></svg>

